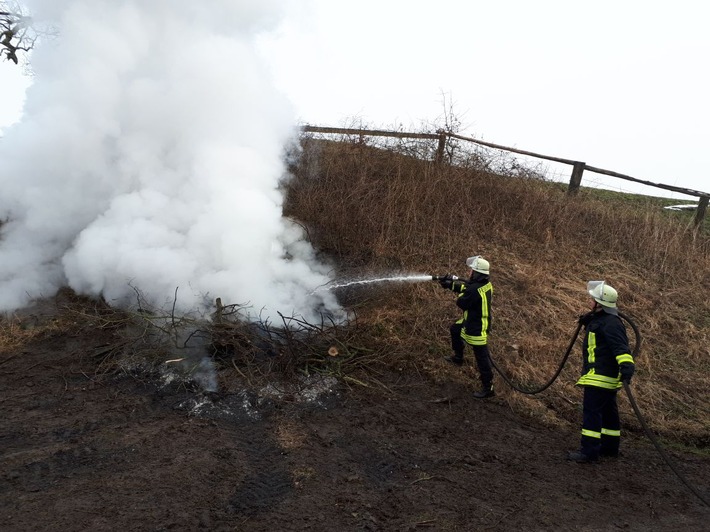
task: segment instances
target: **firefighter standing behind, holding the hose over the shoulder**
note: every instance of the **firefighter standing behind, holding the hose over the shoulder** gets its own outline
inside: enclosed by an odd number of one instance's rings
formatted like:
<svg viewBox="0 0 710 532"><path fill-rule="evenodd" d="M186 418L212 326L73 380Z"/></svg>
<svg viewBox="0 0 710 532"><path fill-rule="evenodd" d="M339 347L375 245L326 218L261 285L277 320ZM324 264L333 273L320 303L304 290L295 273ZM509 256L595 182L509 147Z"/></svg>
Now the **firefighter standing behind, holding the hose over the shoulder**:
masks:
<svg viewBox="0 0 710 532"><path fill-rule="evenodd" d="M630 383L634 359L626 329L618 316L616 290L605 281L589 281L591 311L579 318L585 327L582 344L583 369L577 381L584 388L582 442L570 451L569 460L595 462L600 456L619 455L621 428L616 394L621 382Z"/></svg>

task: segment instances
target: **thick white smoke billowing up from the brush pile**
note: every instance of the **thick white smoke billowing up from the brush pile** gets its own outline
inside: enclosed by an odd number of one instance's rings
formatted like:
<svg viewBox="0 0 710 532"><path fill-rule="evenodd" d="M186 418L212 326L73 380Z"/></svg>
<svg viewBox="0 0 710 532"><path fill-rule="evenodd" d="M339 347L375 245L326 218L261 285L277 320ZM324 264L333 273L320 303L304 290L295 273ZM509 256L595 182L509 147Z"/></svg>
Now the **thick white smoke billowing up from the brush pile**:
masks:
<svg viewBox="0 0 710 532"><path fill-rule="evenodd" d="M338 313L282 217L295 117L256 50L278 0L34 0L58 30L33 52L0 141L0 310L62 286L266 317Z"/></svg>

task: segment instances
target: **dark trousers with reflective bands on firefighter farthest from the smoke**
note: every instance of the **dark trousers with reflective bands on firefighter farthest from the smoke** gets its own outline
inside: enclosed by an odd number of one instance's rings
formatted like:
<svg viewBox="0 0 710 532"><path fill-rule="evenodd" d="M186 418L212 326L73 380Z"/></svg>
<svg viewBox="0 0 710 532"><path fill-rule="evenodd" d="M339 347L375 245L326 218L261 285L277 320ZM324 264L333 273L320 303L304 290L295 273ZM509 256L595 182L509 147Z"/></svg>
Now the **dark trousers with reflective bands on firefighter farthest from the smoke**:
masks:
<svg viewBox="0 0 710 532"><path fill-rule="evenodd" d="M616 389L584 387L582 452L592 459L619 454L621 425L616 392Z"/></svg>

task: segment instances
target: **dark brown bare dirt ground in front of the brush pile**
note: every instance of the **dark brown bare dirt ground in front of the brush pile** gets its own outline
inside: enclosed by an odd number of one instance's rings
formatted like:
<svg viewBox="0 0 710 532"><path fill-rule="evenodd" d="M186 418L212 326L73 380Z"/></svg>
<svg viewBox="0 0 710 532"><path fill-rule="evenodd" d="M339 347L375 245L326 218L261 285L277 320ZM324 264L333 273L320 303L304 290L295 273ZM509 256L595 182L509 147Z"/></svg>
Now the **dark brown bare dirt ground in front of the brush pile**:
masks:
<svg viewBox="0 0 710 532"><path fill-rule="evenodd" d="M710 530L644 438L569 463L576 430L476 400L473 381L201 394L97 372L112 334L0 354L2 530ZM710 459L669 454L710 496Z"/></svg>

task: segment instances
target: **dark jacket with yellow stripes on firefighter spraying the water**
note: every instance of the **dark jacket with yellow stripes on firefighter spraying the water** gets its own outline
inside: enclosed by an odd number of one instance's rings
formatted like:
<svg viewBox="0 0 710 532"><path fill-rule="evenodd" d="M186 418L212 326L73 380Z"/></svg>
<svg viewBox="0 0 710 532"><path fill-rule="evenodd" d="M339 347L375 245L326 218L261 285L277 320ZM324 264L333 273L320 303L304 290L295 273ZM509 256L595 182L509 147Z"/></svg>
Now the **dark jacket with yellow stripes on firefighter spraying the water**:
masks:
<svg viewBox="0 0 710 532"><path fill-rule="evenodd" d="M493 285L487 275L474 272L468 281L457 280L451 290L458 294L456 305L463 310L461 338L470 345L486 345L491 327Z"/></svg>

